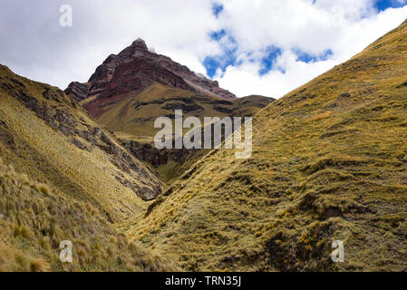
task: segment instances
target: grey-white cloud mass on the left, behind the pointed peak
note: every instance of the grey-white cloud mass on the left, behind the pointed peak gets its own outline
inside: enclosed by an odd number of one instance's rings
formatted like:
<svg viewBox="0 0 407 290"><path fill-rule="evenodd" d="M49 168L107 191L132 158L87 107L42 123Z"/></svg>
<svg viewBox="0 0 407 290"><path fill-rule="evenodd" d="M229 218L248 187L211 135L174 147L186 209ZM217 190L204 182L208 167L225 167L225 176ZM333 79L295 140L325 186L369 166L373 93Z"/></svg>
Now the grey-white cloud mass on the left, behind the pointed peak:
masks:
<svg viewBox="0 0 407 290"><path fill-rule="evenodd" d="M73 6L73 27L59 25L60 5ZM16 73L65 88L86 82L111 53L141 37L167 54L205 73L199 62L218 53L208 33L218 22L208 0L15 0L0 9L0 63Z"/></svg>

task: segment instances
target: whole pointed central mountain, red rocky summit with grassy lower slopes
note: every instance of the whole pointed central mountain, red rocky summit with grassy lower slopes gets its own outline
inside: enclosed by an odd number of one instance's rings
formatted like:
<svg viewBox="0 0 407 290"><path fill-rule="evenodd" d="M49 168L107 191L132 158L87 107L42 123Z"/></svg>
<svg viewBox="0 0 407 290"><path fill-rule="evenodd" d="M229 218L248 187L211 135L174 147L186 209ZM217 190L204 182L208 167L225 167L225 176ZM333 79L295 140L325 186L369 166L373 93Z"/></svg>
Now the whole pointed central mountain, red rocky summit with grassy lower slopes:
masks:
<svg viewBox="0 0 407 290"><path fill-rule="evenodd" d="M174 120L175 111L182 110L184 118L197 117L203 124L204 117L253 116L275 101L258 95L237 99L218 88L218 82L150 52L142 39L117 55L111 54L89 82L72 82L65 93L113 132L134 156L158 169L164 182L178 178L208 150L156 150L154 136L160 128L154 128L154 122L158 118Z"/></svg>

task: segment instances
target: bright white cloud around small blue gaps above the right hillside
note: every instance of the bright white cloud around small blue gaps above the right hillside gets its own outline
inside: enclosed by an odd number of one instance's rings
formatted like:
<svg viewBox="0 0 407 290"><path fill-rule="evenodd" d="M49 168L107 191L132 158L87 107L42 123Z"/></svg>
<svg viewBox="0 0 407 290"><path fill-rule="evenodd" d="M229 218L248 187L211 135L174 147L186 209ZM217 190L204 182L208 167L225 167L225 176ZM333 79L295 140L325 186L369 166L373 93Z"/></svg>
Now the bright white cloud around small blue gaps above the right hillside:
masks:
<svg viewBox="0 0 407 290"><path fill-rule="evenodd" d="M407 6L378 14L370 0L254 1L224 0L221 26L237 40L237 54L254 52L255 62L229 66L216 78L221 86L239 96L258 93L281 97L335 64L343 63L407 17ZM274 44L284 52L278 65L258 75L262 49ZM318 55L330 49L328 60L316 63L296 61L292 49ZM253 60L252 60L253 61ZM283 68L286 73L281 73Z"/></svg>

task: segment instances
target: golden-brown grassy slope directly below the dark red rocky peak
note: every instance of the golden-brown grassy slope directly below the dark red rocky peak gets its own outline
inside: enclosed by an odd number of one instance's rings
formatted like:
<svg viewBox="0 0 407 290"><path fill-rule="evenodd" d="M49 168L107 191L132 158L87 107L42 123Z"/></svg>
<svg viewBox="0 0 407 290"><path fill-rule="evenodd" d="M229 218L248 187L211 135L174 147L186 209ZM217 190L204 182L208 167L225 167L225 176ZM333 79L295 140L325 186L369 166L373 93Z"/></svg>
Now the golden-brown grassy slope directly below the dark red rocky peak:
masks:
<svg viewBox="0 0 407 290"><path fill-rule="evenodd" d="M152 144L154 135L160 131L154 129L154 121L161 116L173 115L175 108L184 110L184 118L197 116L203 123L203 117L253 116L260 108L273 101L271 98L253 95L236 102L228 102L213 95L187 92L153 83L140 94L130 92L121 102L105 106L104 113L97 121L114 131L121 140ZM86 102L89 102L89 99L82 104ZM200 108L196 111L185 111L193 106ZM160 165L160 179L171 183L207 153L206 150L193 152L189 154L185 164L179 160L170 160L169 163Z"/></svg>

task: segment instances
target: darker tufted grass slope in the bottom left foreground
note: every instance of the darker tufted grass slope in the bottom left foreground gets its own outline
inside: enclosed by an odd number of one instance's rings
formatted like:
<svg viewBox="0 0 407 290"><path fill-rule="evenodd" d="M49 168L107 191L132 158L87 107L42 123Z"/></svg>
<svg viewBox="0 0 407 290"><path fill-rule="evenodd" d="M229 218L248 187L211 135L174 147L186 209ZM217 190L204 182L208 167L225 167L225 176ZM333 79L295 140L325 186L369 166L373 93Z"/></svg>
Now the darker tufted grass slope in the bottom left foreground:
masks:
<svg viewBox="0 0 407 290"><path fill-rule="evenodd" d="M168 271L168 261L129 243L91 203L30 179L0 160L0 271ZM59 260L73 243L73 263Z"/></svg>

